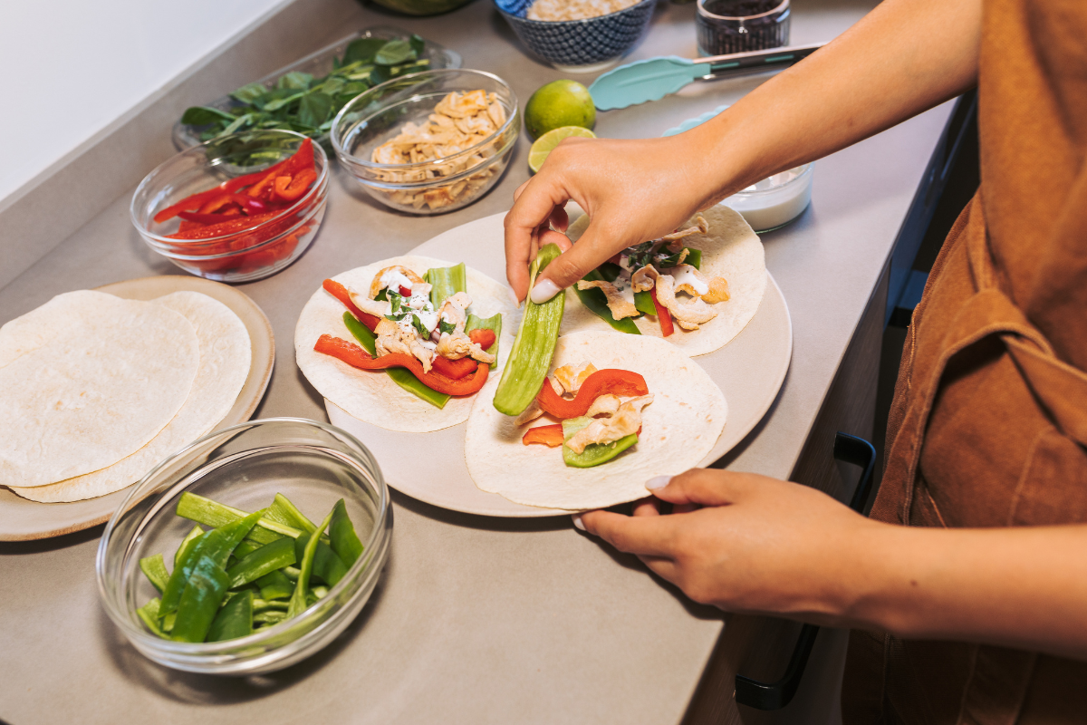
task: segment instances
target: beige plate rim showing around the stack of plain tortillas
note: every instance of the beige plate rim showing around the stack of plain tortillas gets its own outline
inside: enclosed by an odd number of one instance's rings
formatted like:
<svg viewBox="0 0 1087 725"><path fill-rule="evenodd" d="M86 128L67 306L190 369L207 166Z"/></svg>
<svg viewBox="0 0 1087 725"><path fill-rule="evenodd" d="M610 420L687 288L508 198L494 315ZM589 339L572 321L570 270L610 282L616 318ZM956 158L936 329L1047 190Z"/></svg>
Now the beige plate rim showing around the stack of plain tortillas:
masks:
<svg viewBox="0 0 1087 725"><path fill-rule="evenodd" d="M188 290L203 292L230 308L246 325L253 358L249 366L249 377L246 378L234 408L215 427L217 429L249 420L264 396L268 379L272 377L272 364L275 361L272 325L255 302L227 285L180 275L129 279L99 287L98 290L127 300L153 300L171 292ZM128 489L123 488L86 501L37 503L22 499L7 488L0 487L0 541L48 539L90 528L109 520L127 495Z"/></svg>

